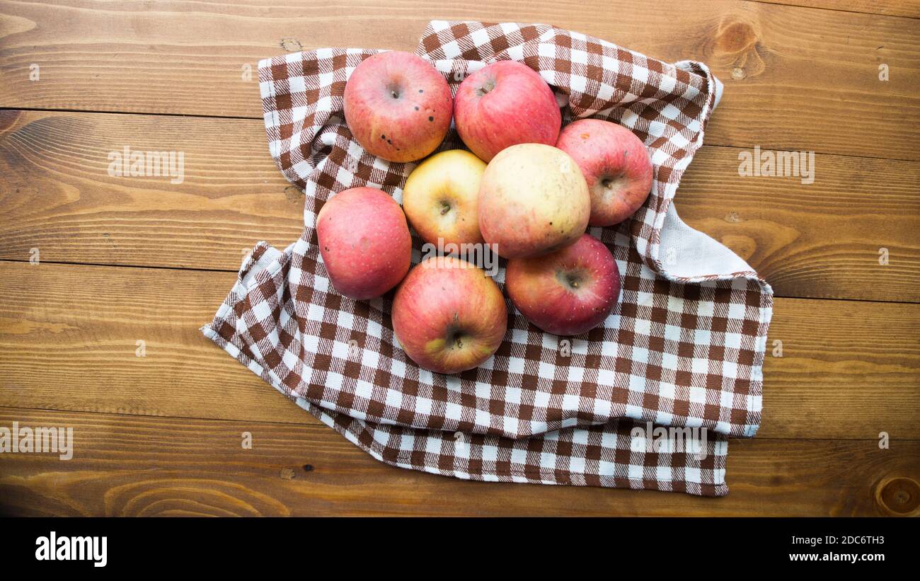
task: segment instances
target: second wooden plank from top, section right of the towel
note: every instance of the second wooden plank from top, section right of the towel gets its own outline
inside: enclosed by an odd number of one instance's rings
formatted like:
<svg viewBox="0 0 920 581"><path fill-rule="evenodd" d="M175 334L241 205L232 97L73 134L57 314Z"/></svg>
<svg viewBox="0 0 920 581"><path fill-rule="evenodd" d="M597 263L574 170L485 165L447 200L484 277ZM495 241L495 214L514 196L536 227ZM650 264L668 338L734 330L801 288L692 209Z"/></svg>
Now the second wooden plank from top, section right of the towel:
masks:
<svg viewBox="0 0 920 581"><path fill-rule="evenodd" d="M674 201L684 222L742 256L777 296L920 299L920 164L819 154L803 184L740 177L743 151L699 151Z"/></svg>

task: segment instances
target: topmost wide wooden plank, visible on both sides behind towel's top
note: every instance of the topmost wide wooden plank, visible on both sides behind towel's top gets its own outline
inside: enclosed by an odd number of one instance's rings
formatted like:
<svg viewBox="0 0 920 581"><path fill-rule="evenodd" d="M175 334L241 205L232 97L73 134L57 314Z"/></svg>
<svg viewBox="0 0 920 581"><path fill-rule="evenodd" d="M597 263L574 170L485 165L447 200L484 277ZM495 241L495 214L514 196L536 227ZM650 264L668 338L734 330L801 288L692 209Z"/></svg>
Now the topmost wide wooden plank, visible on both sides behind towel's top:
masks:
<svg viewBox="0 0 920 581"><path fill-rule="evenodd" d="M920 159L920 24L719 0L0 2L0 107L260 118L259 59L320 46L412 50L431 18L549 22L726 83L708 142ZM880 81L879 67L889 67ZM30 81L38 65L38 81ZM248 67L248 69L245 69ZM251 79L251 80L244 80ZM852 120L852 121L849 121Z"/></svg>

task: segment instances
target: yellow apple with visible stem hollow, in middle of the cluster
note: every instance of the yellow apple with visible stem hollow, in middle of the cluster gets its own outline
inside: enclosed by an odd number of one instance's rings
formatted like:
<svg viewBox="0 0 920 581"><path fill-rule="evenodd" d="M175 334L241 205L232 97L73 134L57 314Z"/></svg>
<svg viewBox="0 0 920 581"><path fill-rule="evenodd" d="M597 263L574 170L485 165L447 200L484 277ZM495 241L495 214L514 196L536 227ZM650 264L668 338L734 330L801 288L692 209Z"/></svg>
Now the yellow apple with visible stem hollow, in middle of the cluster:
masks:
<svg viewBox="0 0 920 581"><path fill-rule="evenodd" d="M412 170L403 188L403 210L422 240L482 243L478 198L485 171L485 162L462 149L431 155Z"/></svg>

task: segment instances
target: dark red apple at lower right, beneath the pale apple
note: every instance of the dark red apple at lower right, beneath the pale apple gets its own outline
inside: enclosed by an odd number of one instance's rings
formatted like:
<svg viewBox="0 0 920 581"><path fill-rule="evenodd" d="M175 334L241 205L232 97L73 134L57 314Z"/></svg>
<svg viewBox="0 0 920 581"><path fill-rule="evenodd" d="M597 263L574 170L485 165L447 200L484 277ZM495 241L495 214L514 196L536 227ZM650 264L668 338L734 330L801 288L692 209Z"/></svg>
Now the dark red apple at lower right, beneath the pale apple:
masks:
<svg viewBox="0 0 920 581"><path fill-rule="evenodd" d="M584 234L550 255L509 260L505 289L518 311L547 333L581 335L614 308L620 272L607 246Z"/></svg>

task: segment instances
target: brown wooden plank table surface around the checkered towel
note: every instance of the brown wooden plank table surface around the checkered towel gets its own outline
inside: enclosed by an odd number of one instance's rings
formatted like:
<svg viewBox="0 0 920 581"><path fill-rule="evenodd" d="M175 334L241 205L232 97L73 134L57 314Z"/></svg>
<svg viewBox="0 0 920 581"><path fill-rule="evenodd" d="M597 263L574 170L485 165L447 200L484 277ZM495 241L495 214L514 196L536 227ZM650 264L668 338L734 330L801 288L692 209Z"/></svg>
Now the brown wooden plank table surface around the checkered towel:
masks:
<svg viewBox="0 0 920 581"><path fill-rule="evenodd" d="M72 426L75 453L0 455L0 512L920 510L917 0L53 4L0 1L0 426ZM431 18L548 22L725 82L676 205L776 290L763 427L730 443L729 496L386 466L199 333L243 253L301 231L303 194L266 146L259 59L412 50ZM183 152L183 181L109 176L126 145ZM814 182L740 176L754 146L814 152Z"/></svg>

